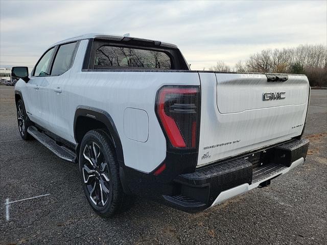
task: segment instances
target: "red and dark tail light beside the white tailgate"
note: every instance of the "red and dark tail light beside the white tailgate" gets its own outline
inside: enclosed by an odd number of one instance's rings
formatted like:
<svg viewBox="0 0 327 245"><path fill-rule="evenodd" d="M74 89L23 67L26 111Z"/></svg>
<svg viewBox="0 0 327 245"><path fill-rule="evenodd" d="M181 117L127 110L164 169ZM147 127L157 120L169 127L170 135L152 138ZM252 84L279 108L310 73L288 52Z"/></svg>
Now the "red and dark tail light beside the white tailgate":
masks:
<svg viewBox="0 0 327 245"><path fill-rule="evenodd" d="M158 91L156 114L173 148L197 148L199 113L199 87L165 86Z"/></svg>

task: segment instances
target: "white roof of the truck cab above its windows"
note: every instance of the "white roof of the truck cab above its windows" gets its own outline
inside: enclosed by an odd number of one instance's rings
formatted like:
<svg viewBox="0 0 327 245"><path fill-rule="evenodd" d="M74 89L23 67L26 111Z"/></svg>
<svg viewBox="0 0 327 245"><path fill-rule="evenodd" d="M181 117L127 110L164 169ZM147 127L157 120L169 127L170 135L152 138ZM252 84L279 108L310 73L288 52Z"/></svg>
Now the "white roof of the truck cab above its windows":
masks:
<svg viewBox="0 0 327 245"><path fill-rule="evenodd" d="M123 39L124 40L132 40L133 39L133 40L139 40L139 41L145 41L145 42L152 42L152 43L155 43L156 45L163 46L163 47L177 48L177 46L175 44L156 41L156 40L136 38L136 37L126 37L126 36L121 36L121 35L101 34L101 33L82 34L82 35L79 35L76 37L71 37L71 38L67 38L62 41L56 42L56 43L52 44L51 46L55 46L58 44L71 42L71 41L90 39L90 38L99 38L99 39L107 39L107 40L114 40L114 41L121 41Z"/></svg>

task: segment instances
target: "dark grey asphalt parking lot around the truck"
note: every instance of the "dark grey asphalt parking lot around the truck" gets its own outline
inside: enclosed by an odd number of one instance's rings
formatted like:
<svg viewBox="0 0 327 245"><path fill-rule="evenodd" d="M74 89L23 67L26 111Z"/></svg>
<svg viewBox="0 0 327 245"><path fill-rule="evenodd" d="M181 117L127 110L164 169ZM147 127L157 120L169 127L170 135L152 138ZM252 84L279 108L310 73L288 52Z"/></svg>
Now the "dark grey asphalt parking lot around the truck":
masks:
<svg viewBox="0 0 327 245"><path fill-rule="evenodd" d="M0 244L325 244L327 240L327 90L312 90L307 161L269 187L197 214L138 198L130 210L112 219L97 216L89 207L76 164L59 159L36 140L21 140L13 87L0 86L0 94ZM44 196L19 201L38 195Z"/></svg>

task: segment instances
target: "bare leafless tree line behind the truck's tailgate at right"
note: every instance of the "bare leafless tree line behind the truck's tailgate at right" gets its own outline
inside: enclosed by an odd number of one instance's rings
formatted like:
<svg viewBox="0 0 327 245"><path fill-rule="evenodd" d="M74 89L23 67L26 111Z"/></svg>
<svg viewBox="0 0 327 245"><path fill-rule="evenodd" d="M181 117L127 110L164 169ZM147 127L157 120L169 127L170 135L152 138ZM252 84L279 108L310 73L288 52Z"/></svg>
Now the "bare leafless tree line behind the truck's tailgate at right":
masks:
<svg viewBox="0 0 327 245"><path fill-rule="evenodd" d="M295 48L267 49L237 62L233 68L218 61L209 70L305 74L311 86L327 86L327 48L321 44L306 44Z"/></svg>

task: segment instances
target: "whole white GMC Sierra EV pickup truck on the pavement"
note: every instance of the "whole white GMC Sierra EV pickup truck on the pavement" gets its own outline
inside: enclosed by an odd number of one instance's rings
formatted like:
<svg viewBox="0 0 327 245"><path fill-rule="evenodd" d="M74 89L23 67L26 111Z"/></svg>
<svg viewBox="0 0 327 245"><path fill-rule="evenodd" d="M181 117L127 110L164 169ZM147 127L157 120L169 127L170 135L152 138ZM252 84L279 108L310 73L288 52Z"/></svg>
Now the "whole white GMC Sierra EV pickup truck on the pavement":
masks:
<svg viewBox="0 0 327 245"><path fill-rule="evenodd" d="M269 185L307 155L303 75L193 71L173 44L86 34L12 77L21 137L79 163L102 216L132 195L197 212Z"/></svg>

